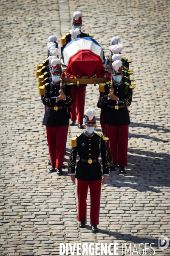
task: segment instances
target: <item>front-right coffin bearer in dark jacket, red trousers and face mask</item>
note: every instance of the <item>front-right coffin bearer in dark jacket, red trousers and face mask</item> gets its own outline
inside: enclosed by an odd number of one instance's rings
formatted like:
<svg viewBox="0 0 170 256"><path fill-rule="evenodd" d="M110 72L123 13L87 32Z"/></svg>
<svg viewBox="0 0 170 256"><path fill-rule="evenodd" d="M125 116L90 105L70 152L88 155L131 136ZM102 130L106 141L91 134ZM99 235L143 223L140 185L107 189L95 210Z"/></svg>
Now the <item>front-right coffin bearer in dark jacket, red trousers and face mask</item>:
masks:
<svg viewBox="0 0 170 256"><path fill-rule="evenodd" d="M128 107L132 102L132 89L122 81L123 74L122 67L120 67L122 64L120 62L122 61L113 62L113 90L106 84L105 92L100 92L100 102L105 105L102 116L107 125L113 170L119 167L119 172L125 174L128 127L130 124Z"/></svg>

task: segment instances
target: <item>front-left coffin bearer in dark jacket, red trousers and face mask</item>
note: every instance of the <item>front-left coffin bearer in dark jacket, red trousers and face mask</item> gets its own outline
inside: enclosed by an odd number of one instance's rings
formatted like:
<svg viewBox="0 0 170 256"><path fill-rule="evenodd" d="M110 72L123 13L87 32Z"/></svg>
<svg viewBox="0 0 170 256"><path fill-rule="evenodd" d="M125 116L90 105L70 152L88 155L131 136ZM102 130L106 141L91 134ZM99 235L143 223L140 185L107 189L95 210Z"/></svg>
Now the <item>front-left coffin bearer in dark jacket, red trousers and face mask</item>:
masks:
<svg viewBox="0 0 170 256"><path fill-rule="evenodd" d="M65 85L63 90L60 90L61 67L54 67L51 73L52 82L40 87L40 90L42 90L40 92L42 103L47 106L42 124L46 126L51 159L49 172L55 172L57 167L57 175L62 175L62 163L69 125L68 108L72 104L72 98L68 85Z"/></svg>

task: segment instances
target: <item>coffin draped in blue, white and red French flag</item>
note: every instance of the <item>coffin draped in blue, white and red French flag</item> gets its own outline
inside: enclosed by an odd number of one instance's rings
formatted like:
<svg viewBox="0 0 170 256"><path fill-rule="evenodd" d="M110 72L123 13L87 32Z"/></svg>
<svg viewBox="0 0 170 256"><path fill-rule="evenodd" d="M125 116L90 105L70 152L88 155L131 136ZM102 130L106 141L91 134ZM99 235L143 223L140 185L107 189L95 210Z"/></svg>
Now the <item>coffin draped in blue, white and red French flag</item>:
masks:
<svg viewBox="0 0 170 256"><path fill-rule="evenodd" d="M76 38L62 51L62 61L67 66L66 73L77 78L104 77L105 55L102 47L92 38Z"/></svg>

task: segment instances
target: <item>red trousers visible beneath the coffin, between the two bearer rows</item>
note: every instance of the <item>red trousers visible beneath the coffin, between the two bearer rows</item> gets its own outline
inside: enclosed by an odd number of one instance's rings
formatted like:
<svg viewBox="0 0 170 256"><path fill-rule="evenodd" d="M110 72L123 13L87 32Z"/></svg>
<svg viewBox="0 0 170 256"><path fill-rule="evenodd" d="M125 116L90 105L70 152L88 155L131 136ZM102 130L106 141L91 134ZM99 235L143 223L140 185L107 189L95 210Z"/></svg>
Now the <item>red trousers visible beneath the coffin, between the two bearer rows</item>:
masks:
<svg viewBox="0 0 170 256"><path fill-rule="evenodd" d="M83 124L83 115L85 108L85 87L72 87L71 95L73 104L71 105L71 121Z"/></svg>

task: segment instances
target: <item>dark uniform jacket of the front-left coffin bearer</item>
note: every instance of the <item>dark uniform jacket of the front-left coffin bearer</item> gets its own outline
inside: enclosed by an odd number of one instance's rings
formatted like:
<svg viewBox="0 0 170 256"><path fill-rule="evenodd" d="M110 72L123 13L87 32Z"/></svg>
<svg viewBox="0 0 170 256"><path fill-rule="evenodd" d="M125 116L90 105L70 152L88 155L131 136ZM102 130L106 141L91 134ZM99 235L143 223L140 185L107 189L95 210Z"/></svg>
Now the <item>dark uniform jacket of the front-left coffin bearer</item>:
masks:
<svg viewBox="0 0 170 256"><path fill-rule="evenodd" d="M71 90L68 85L65 85L64 93L66 96L66 100L62 99L56 102L56 97L59 96L59 84L54 84L51 82L50 84L45 86L47 93L41 96L42 103L48 107L63 107L57 111L46 109L44 114L44 119L42 125L59 127L69 125L69 107L72 104L71 98Z"/></svg>

